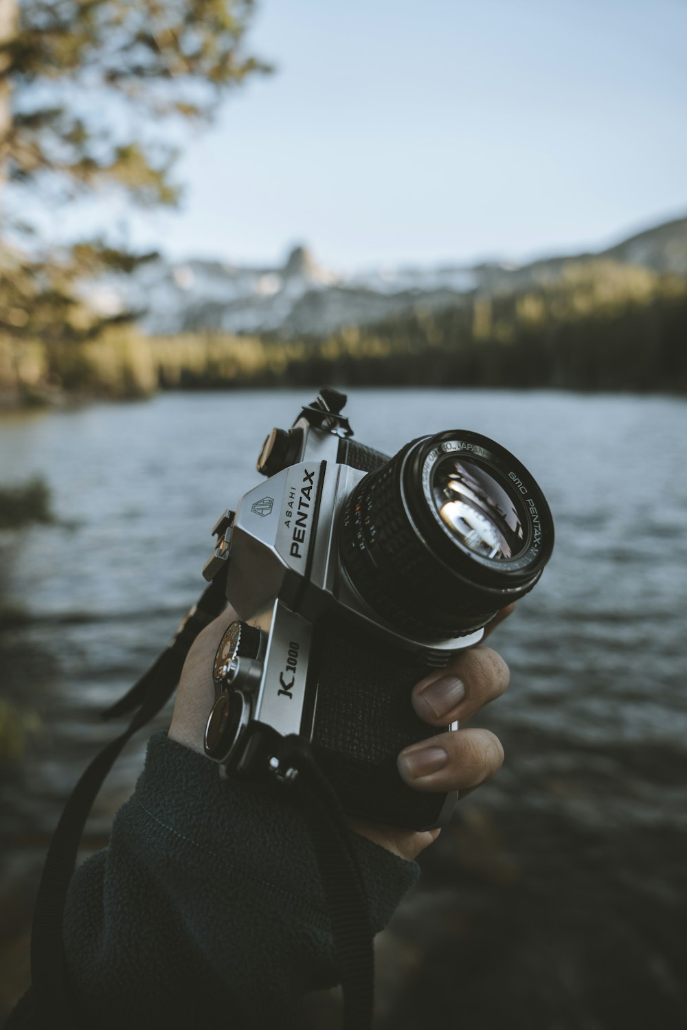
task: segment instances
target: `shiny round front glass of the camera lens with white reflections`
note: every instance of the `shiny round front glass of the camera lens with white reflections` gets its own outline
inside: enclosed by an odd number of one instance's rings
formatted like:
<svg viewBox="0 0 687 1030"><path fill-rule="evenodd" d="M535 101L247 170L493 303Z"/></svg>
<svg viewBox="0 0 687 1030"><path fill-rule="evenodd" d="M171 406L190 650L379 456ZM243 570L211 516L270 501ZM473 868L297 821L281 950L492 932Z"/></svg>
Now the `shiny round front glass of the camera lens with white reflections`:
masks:
<svg viewBox="0 0 687 1030"><path fill-rule="evenodd" d="M437 461L432 495L443 522L475 554L507 560L523 549L514 499L474 458L447 455Z"/></svg>

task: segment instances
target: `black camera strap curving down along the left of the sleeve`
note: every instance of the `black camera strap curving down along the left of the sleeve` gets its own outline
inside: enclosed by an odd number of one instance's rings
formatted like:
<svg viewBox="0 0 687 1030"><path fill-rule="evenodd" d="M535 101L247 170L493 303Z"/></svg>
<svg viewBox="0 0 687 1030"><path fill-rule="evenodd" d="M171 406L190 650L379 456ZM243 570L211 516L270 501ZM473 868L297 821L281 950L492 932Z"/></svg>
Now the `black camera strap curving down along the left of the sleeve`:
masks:
<svg viewBox="0 0 687 1030"><path fill-rule="evenodd" d="M222 611L227 603L225 581L226 573L214 578L154 664L104 713L108 719L137 710L127 729L106 745L81 775L60 817L45 858L31 931L31 980L38 1026L78 1026L66 973L62 924L85 821L125 744L172 695L191 645Z"/></svg>

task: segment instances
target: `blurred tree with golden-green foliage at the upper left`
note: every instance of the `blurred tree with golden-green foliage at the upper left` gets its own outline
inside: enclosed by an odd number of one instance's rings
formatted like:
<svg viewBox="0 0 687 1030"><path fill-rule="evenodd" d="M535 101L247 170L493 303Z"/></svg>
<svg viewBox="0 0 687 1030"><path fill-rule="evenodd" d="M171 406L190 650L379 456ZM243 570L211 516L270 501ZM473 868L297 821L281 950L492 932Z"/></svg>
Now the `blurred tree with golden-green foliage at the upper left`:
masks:
<svg viewBox="0 0 687 1030"><path fill-rule="evenodd" d="M88 311L75 282L150 255L100 238L46 250L27 211L41 200L62 216L66 202L96 191L174 204L176 151L161 119L207 122L229 88L269 71L244 50L252 8L0 0L0 333L82 339L113 320Z"/></svg>

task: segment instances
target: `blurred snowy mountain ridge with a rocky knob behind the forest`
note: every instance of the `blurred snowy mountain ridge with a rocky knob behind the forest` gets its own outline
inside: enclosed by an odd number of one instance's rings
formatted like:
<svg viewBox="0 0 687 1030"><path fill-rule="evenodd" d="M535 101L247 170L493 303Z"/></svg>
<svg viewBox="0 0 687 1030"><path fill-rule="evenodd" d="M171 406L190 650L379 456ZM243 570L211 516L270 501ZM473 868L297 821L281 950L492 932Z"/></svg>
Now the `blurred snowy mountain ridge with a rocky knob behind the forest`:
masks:
<svg viewBox="0 0 687 1030"><path fill-rule="evenodd" d="M521 265L482 262L380 267L353 274L320 266L303 244L282 265L164 259L127 280L103 281L90 295L106 313L133 310L149 335L200 331L293 338L364 325L418 308L440 310L483 297L552 283L572 265L606 261L687 276L687 217L634 233L600 250L538 258Z"/></svg>

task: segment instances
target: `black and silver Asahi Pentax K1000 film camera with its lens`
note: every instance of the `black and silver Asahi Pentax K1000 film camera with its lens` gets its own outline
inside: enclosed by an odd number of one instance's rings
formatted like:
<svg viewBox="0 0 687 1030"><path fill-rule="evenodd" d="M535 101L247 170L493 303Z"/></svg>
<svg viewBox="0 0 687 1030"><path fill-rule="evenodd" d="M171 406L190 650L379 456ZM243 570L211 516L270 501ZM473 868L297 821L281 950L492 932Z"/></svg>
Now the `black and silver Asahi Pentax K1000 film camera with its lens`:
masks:
<svg viewBox="0 0 687 1030"><path fill-rule="evenodd" d="M450 430L389 458L351 439L345 402L322 389L273 430L257 459L267 481L213 530L204 575L226 573L240 621L217 652L205 750L251 776L275 762L275 740L299 734L347 813L427 829L455 794L399 776L399 752L443 731L410 691L534 587L553 522L493 440Z"/></svg>

